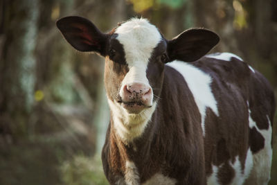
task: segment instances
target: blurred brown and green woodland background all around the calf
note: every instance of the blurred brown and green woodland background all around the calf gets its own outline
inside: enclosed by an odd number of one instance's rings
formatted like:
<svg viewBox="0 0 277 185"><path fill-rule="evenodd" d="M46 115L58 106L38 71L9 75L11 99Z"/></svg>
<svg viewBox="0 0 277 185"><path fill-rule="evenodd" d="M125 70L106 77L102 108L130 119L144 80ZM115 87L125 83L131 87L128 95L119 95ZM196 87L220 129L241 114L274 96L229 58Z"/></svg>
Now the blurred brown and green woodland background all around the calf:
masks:
<svg viewBox="0 0 277 185"><path fill-rule="evenodd" d="M55 21L68 15L87 17L103 32L142 16L167 39L191 27L214 30L221 41L212 52L240 55L277 94L277 1L2 0L0 184L107 184L99 157L109 119L104 62L64 41Z"/></svg>

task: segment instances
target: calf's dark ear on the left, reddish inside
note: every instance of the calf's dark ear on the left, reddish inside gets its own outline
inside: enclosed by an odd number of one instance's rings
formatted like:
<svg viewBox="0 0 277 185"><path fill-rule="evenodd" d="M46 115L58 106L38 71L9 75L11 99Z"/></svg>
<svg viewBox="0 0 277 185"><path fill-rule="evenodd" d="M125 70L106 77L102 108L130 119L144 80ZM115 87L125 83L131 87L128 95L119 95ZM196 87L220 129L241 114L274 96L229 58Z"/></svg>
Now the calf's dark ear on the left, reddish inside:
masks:
<svg viewBox="0 0 277 185"><path fill-rule="evenodd" d="M71 46L78 51L96 51L105 55L107 35L88 19L78 16L64 17L56 22L57 28Z"/></svg>

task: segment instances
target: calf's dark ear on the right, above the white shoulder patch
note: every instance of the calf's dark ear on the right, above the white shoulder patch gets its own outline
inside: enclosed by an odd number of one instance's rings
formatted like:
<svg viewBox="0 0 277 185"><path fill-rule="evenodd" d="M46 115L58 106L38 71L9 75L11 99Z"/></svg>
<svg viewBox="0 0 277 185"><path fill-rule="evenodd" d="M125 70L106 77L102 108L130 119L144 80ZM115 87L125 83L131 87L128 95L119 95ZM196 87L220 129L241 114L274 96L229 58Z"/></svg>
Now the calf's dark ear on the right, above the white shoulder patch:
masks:
<svg viewBox="0 0 277 185"><path fill-rule="evenodd" d="M220 41L220 37L211 30L193 28L185 30L177 37L168 41L168 57L172 60L193 62L202 58L213 46Z"/></svg>

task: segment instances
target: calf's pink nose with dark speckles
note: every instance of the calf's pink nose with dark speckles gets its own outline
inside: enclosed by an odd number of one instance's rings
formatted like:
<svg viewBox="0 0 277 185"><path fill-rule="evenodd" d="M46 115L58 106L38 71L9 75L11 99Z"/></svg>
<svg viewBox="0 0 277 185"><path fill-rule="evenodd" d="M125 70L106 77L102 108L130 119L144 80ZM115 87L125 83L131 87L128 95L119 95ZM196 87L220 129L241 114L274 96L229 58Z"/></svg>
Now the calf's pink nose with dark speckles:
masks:
<svg viewBox="0 0 277 185"><path fill-rule="evenodd" d="M152 89L141 82L132 82L123 87L123 100L125 102L141 102L144 105L152 105Z"/></svg>

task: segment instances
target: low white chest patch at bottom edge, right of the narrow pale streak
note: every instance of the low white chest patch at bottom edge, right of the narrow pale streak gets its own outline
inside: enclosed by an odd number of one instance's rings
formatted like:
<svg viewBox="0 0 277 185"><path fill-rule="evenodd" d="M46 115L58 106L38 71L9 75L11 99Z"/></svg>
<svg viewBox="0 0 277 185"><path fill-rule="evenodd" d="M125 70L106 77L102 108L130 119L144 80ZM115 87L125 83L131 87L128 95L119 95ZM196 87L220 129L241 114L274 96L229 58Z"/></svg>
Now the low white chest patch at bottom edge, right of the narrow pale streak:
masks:
<svg viewBox="0 0 277 185"><path fill-rule="evenodd" d="M174 185L176 183L177 183L176 179L166 177L166 176L162 175L161 173L156 173L142 185L152 185L152 184Z"/></svg>

